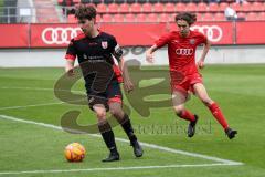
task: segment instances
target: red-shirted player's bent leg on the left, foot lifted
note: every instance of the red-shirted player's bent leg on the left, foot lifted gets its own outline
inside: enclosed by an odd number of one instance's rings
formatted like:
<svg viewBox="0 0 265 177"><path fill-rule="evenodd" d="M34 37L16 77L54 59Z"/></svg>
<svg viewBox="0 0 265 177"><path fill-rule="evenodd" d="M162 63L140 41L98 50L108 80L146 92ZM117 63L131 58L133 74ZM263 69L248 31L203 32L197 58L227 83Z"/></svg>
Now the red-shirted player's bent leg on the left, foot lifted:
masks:
<svg viewBox="0 0 265 177"><path fill-rule="evenodd" d="M184 91L173 91L172 93L172 104L176 114L183 119L190 122L188 126L188 136L192 137L195 133L195 124L198 121L198 116L193 115L190 111L184 108L184 103L187 102L188 93Z"/></svg>

